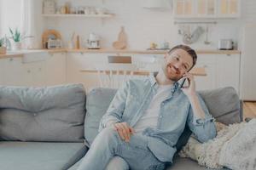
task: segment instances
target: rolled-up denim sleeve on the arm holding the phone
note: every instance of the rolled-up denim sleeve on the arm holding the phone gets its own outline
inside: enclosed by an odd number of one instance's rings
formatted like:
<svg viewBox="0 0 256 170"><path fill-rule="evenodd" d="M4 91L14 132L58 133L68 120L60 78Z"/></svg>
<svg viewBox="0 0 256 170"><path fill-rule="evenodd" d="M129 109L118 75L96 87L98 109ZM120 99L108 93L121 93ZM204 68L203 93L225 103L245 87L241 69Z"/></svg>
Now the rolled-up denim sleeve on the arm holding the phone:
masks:
<svg viewBox="0 0 256 170"><path fill-rule="evenodd" d="M209 139L216 137L216 127L214 123L214 118L209 113L207 105L201 99L198 94L198 99L200 100L201 108L205 112L205 118L201 119L195 116L192 106L189 105L189 116L187 123L190 130L195 134L196 138L201 142L207 142Z"/></svg>

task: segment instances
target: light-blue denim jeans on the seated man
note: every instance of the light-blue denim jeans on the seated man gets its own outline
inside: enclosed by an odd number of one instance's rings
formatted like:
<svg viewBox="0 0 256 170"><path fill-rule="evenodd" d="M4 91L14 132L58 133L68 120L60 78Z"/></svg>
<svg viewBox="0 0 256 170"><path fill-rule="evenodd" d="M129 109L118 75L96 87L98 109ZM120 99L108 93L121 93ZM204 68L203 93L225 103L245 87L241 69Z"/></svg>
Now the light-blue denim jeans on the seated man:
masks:
<svg viewBox="0 0 256 170"><path fill-rule="evenodd" d="M148 149L148 137L133 134L129 143L119 137L113 128L105 128L96 136L78 170L103 170L113 156L122 157L134 170L162 170L159 161Z"/></svg>

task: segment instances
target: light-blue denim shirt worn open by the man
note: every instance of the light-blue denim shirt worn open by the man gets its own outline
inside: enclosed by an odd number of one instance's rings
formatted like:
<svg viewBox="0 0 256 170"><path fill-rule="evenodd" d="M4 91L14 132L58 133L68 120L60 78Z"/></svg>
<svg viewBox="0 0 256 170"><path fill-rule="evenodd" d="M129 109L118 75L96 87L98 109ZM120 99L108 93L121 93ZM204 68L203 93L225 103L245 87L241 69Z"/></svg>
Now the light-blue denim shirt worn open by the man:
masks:
<svg viewBox="0 0 256 170"><path fill-rule="evenodd" d="M148 109L151 99L156 94L158 83L152 75L144 79L131 79L119 88L108 111L100 122L99 131L109 122L127 122L131 127L137 123L143 113ZM198 95L198 94L197 94ZM160 105L157 127L147 127L143 135L148 136L148 149L160 161L171 161L176 152L177 139L183 133L186 123L195 137L206 142L216 136L216 127L213 117L207 106L198 95L201 107L205 111L205 118L194 116L189 99L175 82L168 98Z"/></svg>

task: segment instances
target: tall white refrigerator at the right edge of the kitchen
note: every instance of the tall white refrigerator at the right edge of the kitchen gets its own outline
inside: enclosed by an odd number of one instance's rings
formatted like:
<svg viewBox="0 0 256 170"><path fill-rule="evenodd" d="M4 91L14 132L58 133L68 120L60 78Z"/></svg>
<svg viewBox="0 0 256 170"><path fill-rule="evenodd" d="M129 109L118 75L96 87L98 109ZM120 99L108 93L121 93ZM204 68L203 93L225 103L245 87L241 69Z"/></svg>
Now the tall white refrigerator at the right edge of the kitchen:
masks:
<svg viewBox="0 0 256 170"><path fill-rule="evenodd" d="M256 101L256 23L247 24L243 28L241 42L241 99Z"/></svg>

